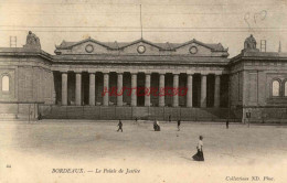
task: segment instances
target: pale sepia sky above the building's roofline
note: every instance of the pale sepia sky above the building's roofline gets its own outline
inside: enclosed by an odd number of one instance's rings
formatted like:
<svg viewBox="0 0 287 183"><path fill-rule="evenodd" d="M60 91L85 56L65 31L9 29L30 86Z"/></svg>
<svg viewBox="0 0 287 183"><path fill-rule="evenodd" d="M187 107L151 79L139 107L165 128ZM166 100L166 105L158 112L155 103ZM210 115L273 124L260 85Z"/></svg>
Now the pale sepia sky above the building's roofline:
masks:
<svg viewBox="0 0 287 183"><path fill-rule="evenodd" d="M195 39L221 43L230 57L240 54L253 34L259 49L287 52L287 0L0 0L0 47L25 44L31 30L42 50L88 36L103 42L132 42L142 36L157 43Z"/></svg>

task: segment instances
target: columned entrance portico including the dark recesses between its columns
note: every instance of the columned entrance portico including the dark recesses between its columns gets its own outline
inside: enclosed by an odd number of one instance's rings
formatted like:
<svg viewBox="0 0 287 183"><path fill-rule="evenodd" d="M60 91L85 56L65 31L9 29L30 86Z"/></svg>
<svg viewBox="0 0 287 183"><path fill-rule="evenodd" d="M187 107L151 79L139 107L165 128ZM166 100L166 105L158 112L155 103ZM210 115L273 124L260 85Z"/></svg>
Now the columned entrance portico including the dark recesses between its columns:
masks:
<svg viewBox="0 0 287 183"><path fill-rule="evenodd" d="M56 72L55 72L56 73ZM70 74L67 74L70 73ZM163 73L142 73L145 74L141 83L145 87L137 85L138 73L116 73L117 82L115 85L109 85L110 73L102 73L99 71L88 72L88 77L82 77L84 72L61 72L62 92L56 94L56 100L61 101L62 106L158 106L158 107L215 107L221 104L221 77L226 77L224 74L200 74L200 80L194 74L163 74ZM140 73L140 72L139 72ZM74 75L74 76L73 76ZM103 77L100 77L103 75ZM129 77L131 79L126 79ZM151 79L152 76L152 79ZM75 77L75 93L67 93L68 84L73 85L68 79ZM164 78L172 77L164 80ZM208 79L211 78L211 79ZM88 92L85 90L82 83L88 84ZM196 83L196 84L194 84ZM213 85L208 87L208 85ZM226 85L226 84L225 84ZM172 87L170 87L172 86ZM200 86L200 88L198 88ZM103 89L102 89L103 88ZM211 88L214 88L211 90ZM59 90L59 89L57 89ZM70 89L71 90L71 89ZM142 92L141 92L142 90ZM200 92L199 95L196 92ZM83 94L82 94L83 93ZM142 95L144 94L144 95ZM209 94L209 97L208 97ZM71 95L71 96L70 96ZM142 95L144 104L138 104L138 96ZM212 95L212 97L211 97ZM73 97L74 96L74 97ZM113 99L111 96L116 99ZM142 97L141 96L141 97ZM68 101L67 101L68 98ZM84 98L88 98L86 101ZM171 100L170 100L171 98ZM195 103L194 101L200 101Z"/></svg>

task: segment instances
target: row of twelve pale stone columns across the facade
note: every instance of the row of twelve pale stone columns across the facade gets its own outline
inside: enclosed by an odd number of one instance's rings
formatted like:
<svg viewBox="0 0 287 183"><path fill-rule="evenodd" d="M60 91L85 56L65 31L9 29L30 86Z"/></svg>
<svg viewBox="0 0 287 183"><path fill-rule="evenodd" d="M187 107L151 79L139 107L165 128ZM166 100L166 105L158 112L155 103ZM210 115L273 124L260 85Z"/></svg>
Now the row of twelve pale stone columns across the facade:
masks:
<svg viewBox="0 0 287 183"><path fill-rule="evenodd" d="M67 105L67 73L62 74L62 105ZM95 73L89 74L89 99L88 105L95 106ZM109 88L109 73L104 74L104 88ZM131 74L131 88L137 88L137 76L138 73L130 73ZM82 105L82 73L75 73L75 105ZM124 73L117 73L117 93L120 93L123 89L123 75ZM145 73L145 87L150 88L151 86L151 73ZM208 74L201 74L201 97L200 97L200 107L206 107L206 77ZM166 74L159 74L159 92L164 90L164 79ZM187 76L187 107L192 106L192 82L193 82L193 74L188 74ZM220 75L215 75L214 82L214 107L220 107L220 85L221 79ZM173 88L179 88L179 74L173 74ZM137 106L137 90L131 89L131 103L130 106ZM103 106L109 105L109 95L106 94L103 96ZM123 106L123 95L117 95L117 106ZM145 106L151 106L150 103L150 95L145 95ZM159 95L159 106L163 107L164 104L164 95ZM179 106L179 95L172 96L172 107Z"/></svg>

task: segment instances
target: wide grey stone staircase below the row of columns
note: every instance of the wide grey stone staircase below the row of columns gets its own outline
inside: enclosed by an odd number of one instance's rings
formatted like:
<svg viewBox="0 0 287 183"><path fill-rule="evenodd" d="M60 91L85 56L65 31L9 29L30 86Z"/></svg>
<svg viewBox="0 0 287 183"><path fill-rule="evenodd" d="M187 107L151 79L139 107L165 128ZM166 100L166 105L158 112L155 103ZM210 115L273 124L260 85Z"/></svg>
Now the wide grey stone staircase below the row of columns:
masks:
<svg viewBox="0 0 287 183"><path fill-rule="evenodd" d="M171 116L171 120L225 121L228 118L227 108L40 106L39 110L46 119L168 120Z"/></svg>

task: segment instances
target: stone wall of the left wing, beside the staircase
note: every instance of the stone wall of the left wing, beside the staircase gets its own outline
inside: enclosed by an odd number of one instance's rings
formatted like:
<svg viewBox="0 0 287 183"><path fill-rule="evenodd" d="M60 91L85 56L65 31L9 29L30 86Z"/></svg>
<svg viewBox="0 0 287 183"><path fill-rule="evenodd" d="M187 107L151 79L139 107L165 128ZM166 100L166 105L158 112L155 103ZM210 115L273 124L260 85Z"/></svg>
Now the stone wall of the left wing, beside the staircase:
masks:
<svg viewBox="0 0 287 183"><path fill-rule="evenodd" d="M51 63L29 54L0 56L1 119L35 119L38 104L54 104ZM3 76L9 76L8 92L2 90Z"/></svg>

